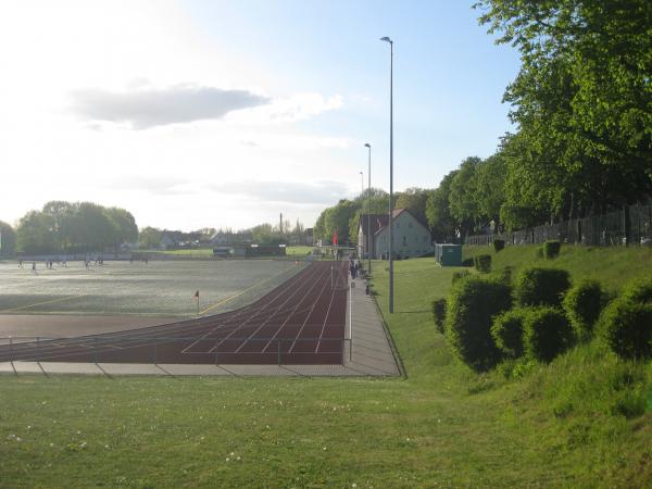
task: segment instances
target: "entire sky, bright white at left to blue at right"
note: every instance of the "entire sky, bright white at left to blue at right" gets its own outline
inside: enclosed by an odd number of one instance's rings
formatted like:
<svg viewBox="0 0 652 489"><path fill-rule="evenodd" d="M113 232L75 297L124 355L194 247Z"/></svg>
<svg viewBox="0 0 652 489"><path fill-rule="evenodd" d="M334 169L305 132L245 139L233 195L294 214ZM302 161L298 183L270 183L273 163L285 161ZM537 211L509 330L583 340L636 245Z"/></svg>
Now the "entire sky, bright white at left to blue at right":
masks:
<svg viewBox="0 0 652 489"><path fill-rule="evenodd" d="M435 188L512 129L518 53L463 0L0 2L0 220L50 200L139 227L306 227L367 186Z"/></svg>

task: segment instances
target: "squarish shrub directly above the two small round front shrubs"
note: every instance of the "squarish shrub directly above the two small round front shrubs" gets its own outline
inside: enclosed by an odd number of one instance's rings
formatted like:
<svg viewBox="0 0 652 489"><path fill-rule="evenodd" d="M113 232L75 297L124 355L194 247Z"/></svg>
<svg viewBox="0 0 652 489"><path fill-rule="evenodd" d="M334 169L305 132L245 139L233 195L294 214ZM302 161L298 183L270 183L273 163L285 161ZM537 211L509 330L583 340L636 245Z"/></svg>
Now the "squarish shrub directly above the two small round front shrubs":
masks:
<svg viewBox="0 0 652 489"><path fill-rule="evenodd" d="M570 287L568 272L560 268L525 268L516 280L516 300L521 305L562 304L562 296Z"/></svg>

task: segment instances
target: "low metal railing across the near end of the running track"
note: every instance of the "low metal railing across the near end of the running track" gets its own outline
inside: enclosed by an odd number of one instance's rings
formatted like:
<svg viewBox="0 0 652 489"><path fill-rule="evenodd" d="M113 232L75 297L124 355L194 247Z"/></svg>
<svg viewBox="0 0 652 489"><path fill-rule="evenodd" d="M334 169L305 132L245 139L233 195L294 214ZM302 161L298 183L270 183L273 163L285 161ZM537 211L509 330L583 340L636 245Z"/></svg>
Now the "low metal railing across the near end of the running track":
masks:
<svg viewBox="0 0 652 489"><path fill-rule="evenodd" d="M349 338L0 337L0 363L342 365L352 350Z"/></svg>

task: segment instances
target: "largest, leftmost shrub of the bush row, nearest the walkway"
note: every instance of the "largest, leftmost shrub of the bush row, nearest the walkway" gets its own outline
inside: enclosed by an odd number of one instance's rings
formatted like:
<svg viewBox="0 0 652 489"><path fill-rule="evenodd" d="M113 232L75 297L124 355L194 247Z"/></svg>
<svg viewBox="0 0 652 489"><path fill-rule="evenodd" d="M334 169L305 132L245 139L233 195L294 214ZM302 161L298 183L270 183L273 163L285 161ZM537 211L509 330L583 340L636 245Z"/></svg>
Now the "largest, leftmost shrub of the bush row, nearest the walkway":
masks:
<svg viewBox="0 0 652 489"><path fill-rule="evenodd" d="M505 284L477 276L457 281L446 304L446 336L453 353L476 372L493 367L501 352L491 338L491 318L511 305Z"/></svg>

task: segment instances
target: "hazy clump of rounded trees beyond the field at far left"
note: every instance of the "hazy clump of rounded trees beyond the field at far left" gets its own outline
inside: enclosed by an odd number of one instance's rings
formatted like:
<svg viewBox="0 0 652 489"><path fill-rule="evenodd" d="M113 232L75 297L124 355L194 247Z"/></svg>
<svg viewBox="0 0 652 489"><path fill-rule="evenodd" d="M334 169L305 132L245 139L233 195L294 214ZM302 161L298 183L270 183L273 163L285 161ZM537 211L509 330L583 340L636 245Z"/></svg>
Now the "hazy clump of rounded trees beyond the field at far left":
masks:
<svg viewBox="0 0 652 489"><path fill-rule="evenodd" d="M117 250L138 239L131 213L92 202L51 201L25 214L15 230L0 223L0 231L2 254Z"/></svg>

